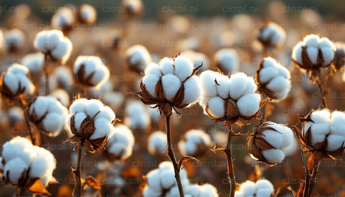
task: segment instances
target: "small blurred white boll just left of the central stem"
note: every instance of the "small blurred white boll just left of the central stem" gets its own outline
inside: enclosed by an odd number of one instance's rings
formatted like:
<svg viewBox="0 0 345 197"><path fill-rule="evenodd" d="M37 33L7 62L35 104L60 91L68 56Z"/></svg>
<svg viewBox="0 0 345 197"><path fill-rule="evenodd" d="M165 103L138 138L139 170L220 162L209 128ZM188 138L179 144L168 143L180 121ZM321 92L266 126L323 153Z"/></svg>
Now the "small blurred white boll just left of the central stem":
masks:
<svg viewBox="0 0 345 197"><path fill-rule="evenodd" d="M167 148L167 135L165 132L153 132L147 143L147 150L151 155L162 154Z"/></svg>

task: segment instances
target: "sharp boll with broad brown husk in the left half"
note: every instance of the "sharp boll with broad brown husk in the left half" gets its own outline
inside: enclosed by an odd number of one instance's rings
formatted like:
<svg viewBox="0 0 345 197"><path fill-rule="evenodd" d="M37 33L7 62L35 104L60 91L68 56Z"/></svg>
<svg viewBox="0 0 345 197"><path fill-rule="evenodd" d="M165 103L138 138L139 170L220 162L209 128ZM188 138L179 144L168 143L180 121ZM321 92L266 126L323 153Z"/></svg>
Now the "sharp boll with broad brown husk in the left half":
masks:
<svg viewBox="0 0 345 197"><path fill-rule="evenodd" d="M104 145L114 135L114 111L97 99L80 98L79 94L69 107L71 117L67 122L74 136L65 142L81 143L89 152L105 149Z"/></svg>

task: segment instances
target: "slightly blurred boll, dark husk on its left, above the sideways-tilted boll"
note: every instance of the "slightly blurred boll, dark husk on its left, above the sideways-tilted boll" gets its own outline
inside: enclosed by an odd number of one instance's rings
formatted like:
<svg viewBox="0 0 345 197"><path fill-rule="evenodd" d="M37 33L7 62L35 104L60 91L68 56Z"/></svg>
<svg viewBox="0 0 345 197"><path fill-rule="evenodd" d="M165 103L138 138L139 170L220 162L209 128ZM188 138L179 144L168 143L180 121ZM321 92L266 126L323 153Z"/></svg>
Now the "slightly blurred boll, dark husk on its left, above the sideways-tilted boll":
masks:
<svg viewBox="0 0 345 197"><path fill-rule="evenodd" d="M284 100L291 90L290 71L271 57L263 57L256 71L259 91L271 101Z"/></svg>

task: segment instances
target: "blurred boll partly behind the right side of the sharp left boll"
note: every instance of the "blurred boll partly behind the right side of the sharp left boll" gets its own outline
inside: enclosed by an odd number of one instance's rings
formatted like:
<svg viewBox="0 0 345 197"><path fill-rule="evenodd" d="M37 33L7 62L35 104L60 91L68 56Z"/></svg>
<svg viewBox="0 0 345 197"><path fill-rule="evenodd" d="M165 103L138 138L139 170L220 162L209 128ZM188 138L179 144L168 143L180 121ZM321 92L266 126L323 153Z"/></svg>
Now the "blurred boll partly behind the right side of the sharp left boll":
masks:
<svg viewBox="0 0 345 197"><path fill-rule="evenodd" d="M134 135L126 125L117 124L114 135L107 142L107 152L116 159L126 160L132 155Z"/></svg>

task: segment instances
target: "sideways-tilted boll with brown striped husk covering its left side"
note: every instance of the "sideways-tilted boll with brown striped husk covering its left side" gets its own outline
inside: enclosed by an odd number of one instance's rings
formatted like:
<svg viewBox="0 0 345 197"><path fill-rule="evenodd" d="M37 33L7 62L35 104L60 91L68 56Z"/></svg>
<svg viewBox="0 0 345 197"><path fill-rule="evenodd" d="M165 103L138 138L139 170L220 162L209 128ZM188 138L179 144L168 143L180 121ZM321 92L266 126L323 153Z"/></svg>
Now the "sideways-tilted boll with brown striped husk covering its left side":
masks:
<svg viewBox="0 0 345 197"><path fill-rule="evenodd" d="M249 154L259 162L276 165L283 161L285 153L290 151L293 138L294 132L284 125L260 122L247 138Z"/></svg>

